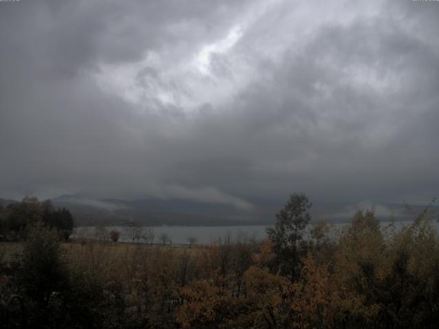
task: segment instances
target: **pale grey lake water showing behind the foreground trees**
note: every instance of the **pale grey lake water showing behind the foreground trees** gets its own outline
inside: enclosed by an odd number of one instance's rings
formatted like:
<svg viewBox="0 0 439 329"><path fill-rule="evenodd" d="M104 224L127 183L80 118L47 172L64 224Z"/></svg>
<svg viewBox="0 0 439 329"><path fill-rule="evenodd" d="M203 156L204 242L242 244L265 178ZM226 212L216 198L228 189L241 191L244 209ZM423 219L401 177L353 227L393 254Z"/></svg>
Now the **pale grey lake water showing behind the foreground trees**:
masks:
<svg viewBox="0 0 439 329"><path fill-rule="evenodd" d="M395 223L396 229L401 229L403 226L410 224L411 221L397 221ZM437 221L432 222L436 230L439 231L439 223ZM381 227L385 227L389 224L387 221L381 222ZM331 230L331 236L335 236L335 232L340 230L347 223L334 223L333 230ZM212 242L218 241L218 239L230 239L235 240L239 236L254 237L257 240L263 240L266 236L265 229L267 226L257 225L257 226L153 226L150 227L154 231L154 243L159 243L160 236L162 234L167 234L172 243L188 243L188 238L193 237L196 239L197 243L210 244ZM309 226L309 229L311 226ZM143 228L147 230L149 228ZM308 229L308 232L309 232ZM86 238L93 237L95 235L95 228L93 227L79 227L75 228L72 237ZM121 237L119 241L130 242L129 234L126 228L122 226L108 226L106 230L117 230L121 232ZM307 235L305 234L305 239Z"/></svg>

